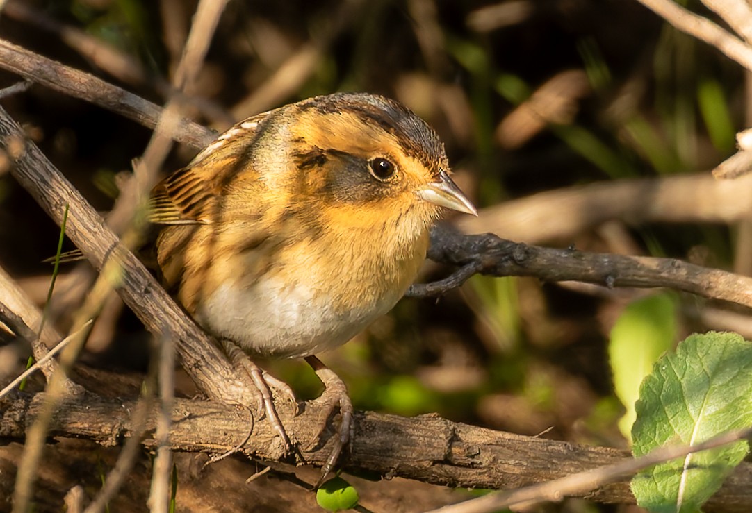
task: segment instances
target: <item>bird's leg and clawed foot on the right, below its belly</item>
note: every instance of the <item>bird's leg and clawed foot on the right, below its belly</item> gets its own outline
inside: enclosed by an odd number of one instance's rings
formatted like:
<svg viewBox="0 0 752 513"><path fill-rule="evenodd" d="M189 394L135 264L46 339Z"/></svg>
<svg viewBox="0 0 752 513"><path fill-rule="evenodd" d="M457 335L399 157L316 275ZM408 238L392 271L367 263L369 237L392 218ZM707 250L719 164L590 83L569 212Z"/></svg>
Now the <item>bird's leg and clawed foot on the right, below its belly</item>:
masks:
<svg viewBox="0 0 752 513"><path fill-rule="evenodd" d="M324 463L324 466L321 469L321 477L316 483L316 487L318 488L321 483L323 483L326 475L334 468L344 446L350 441L353 430L354 410L353 403L347 395L347 388L344 386L344 382L339 376L329 369L329 367L326 367L326 365L315 356L307 356L305 357L305 361L308 362L308 365L313 367L316 376L318 376L324 384L324 392L321 394L321 397L317 399L317 402L323 403L323 405L326 406L324 427L326 427L326 419L329 419L329 416L332 415L335 406L339 405L339 412L341 415L334 447L332 448L331 454L329 454L329 457L326 459L326 463Z"/></svg>

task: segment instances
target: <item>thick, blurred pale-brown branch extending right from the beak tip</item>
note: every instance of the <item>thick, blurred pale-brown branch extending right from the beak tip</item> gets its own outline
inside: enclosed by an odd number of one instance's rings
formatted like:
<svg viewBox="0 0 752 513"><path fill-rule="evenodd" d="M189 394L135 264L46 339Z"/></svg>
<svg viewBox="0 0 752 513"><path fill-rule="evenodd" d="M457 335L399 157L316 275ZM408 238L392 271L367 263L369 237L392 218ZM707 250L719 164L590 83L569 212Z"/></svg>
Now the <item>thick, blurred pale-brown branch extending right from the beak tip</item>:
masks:
<svg viewBox="0 0 752 513"><path fill-rule="evenodd" d="M715 180L707 172L596 182L539 192L459 217L468 234L490 231L526 243L573 237L604 222L731 223L749 219L752 177Z"/></svg>

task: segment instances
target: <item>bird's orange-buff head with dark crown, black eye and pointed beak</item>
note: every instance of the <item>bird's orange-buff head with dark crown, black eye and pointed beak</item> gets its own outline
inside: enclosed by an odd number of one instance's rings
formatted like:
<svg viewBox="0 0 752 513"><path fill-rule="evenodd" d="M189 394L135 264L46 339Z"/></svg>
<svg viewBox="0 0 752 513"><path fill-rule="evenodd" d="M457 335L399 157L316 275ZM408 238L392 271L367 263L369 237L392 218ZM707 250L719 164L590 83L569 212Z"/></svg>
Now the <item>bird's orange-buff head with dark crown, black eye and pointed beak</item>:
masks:
<svg viewBox="0 0 752 513"><path fill-rule="evenodd" d="M295 116L291 158L305 195L332 225L383 228L407 242L443 209L477 215L449 177L438 135L402 104L340 93L296 107L287 113Z"/></svg>

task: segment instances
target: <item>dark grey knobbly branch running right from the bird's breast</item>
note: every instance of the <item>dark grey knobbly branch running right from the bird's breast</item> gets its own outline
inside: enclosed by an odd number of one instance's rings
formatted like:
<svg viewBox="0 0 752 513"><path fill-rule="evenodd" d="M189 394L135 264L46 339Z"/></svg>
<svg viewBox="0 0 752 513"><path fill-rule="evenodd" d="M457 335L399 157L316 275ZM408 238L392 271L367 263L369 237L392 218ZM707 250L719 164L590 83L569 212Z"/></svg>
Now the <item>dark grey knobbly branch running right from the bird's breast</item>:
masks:
<svg viewBox="0 0 752 513"><path fill-rule="evenodd" d="M431 233L429 258L490 276L535 276L549 282L578 281L614 287L667 287L752 308L752 278L688 264L576 249L528 246L493 234L462 235L450 228ZM408 295L440 295L456 286L413 285Z"/></svg>

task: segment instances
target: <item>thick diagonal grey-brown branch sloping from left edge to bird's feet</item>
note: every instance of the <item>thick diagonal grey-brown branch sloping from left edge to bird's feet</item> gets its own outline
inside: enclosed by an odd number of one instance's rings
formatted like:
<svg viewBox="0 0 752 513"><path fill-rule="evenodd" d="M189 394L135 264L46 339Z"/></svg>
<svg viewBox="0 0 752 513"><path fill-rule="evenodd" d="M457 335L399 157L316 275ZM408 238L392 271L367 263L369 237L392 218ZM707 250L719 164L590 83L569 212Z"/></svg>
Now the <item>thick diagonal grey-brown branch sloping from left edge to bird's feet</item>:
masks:
<svg viewBox="0 0 752 513"><path fill-rule="evenodd" d="M183 367L210 397L242 400L252 397L235 370L211 339L196 326L164 289L105 225L102 218L71 186L30 140L20 126L0 109L0 147L14 161L11 174L31 193L58 224L69 206L66 235L101 270L105 261L116 259L120 270L118 292L144 325L161 336L171 333Z"/></svg>

